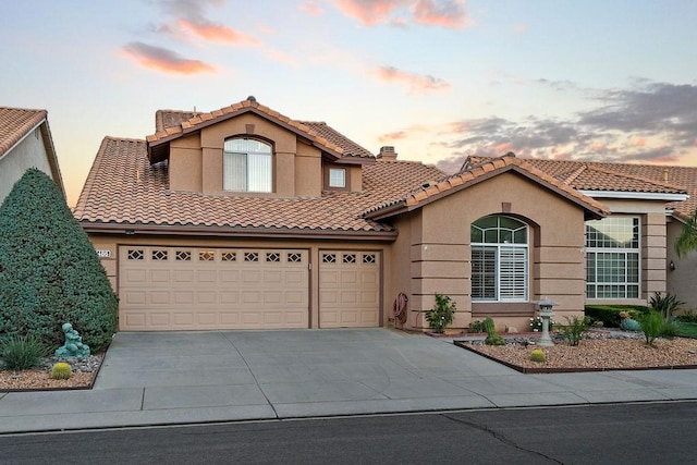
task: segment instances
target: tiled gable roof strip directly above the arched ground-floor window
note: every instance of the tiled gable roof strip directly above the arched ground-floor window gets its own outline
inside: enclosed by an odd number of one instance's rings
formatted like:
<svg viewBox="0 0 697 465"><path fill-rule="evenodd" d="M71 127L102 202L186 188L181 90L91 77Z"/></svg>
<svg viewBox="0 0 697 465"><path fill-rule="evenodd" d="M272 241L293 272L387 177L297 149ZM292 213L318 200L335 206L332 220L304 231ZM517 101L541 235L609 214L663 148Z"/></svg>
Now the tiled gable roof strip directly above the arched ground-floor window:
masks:
<svg viewBox="0 0 697 465"><path fill-rule="evenodd" d="M396 200L368 209L366 216L374 220L380 220L405 211L412 211L504 172L522 174L543 187L566 197L572 203L584 208L588 213L588 218L602 218L609 213L601 203L515 158L513 154L506 154L503 157L481 160L476 166L465 167L460 173L448 176L440 182L425 184Z"/></svg>

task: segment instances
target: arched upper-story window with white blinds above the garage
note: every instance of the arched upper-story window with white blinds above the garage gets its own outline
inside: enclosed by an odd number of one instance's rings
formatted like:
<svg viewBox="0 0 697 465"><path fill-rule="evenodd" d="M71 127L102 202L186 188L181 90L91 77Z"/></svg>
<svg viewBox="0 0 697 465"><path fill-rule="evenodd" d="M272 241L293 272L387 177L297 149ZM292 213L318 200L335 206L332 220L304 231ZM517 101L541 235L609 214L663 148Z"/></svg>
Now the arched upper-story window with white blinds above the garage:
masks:
<svg viewBox="0 0 697 465"><path fill-rule="evenodd" d="M225 140L223 188L232 192L273 192L273 159L269 144L249 138Z"/></svg>

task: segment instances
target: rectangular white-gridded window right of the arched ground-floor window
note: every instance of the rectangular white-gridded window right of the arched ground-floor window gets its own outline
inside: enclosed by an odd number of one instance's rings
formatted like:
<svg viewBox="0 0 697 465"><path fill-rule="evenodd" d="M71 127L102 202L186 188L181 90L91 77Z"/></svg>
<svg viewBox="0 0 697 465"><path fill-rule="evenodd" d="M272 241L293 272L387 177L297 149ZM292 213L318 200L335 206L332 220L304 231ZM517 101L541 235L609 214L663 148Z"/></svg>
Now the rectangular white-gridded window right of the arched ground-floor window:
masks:
<svg viewBox="0 0 697 465"><path fill-rule="evenodd" d="M586 297L639 297L639 219L586 221Z"/></svg>

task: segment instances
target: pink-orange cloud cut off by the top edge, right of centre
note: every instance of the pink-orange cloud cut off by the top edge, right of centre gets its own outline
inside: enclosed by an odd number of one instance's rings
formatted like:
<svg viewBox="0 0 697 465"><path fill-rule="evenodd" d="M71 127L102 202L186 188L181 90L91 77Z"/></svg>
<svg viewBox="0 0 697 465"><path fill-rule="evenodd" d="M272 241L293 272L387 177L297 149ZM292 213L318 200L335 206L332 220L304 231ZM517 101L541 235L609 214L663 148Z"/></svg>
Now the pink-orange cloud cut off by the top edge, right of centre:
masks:
<svg viewBox="0 0 697 465"><path fill-rule="evenodd" d="M364 26L391 24L405 26L411 22L427 26L463 28L473 25L464 0L334 0L345 16Z"/></svg>

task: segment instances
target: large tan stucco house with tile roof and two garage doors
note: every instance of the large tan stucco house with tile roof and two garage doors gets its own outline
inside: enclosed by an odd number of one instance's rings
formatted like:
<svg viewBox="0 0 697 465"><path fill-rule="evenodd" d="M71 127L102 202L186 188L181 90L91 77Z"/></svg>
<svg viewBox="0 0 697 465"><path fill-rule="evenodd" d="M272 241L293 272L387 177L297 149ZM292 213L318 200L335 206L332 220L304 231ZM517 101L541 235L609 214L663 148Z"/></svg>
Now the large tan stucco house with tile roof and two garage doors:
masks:
<svg viewBox="0 0 697 465"><path fill-rule="evenodd" d="M606 295L587 280L586 229L598 244L614 234L597 223L614 204L541 168L470 158L449 176L248 97L160 110L145 139L106 137L74 213L119 293L121 330L381 327L400 293L406 328L425 328L435 293L456 302L453 328L485 316L519 328L536 299L576 315L589 285ZM615 191L656 196L631 222L650 238L640 265L626 259L646 278L623 282L622 301L638 301L665 286L665 205L686 192L616 176Z"/></svg>

